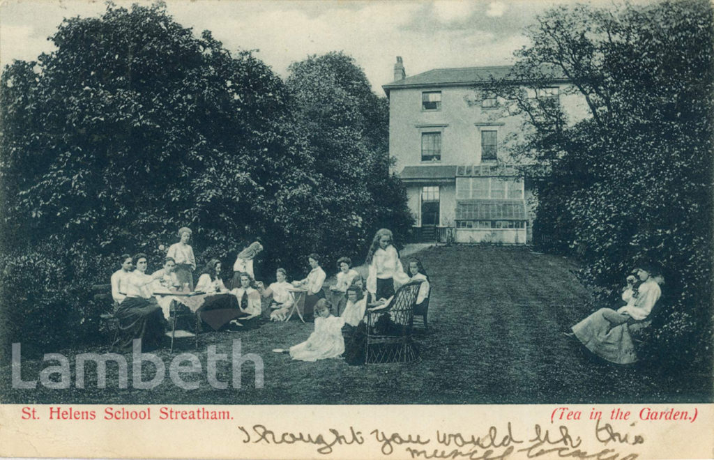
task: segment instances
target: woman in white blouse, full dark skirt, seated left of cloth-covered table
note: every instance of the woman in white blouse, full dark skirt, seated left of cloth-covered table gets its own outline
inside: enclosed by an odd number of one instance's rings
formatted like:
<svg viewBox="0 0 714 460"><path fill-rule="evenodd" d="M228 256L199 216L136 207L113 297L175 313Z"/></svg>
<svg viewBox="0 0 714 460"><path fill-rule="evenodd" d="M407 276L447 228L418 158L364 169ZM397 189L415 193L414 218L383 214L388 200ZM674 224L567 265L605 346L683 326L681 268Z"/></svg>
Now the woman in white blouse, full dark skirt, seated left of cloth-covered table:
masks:
<svg viewBox="0 0 714 460"><path fill-rule="evenodd" d="M166 330L161 307L151 294L151 285L159 277L146 275L146 254L135 255L132 262L136 270L127 277L126 297L114 312L119 319L115 345L131 348L134 339L141 339L142 349L154 349L161 344Z"/></svg>

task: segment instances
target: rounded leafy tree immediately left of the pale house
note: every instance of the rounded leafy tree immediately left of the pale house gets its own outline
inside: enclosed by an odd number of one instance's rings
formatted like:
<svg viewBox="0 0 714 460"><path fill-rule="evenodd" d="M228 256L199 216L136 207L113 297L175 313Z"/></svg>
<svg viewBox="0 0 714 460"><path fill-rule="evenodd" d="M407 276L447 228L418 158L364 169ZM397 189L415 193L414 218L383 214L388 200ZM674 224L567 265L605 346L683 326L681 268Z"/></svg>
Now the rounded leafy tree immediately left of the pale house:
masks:
<svg viewBox="0 0 714 460"><path fill-rule="evenodd" d="M315 160L326 215L313 228L323 248L364 255L379 227L401 237L410 227L406 193L389 175L389 112L362 69L341 52L293 63L287 86L296 118ZM341 216L343 210L351 214Z"/></svg>

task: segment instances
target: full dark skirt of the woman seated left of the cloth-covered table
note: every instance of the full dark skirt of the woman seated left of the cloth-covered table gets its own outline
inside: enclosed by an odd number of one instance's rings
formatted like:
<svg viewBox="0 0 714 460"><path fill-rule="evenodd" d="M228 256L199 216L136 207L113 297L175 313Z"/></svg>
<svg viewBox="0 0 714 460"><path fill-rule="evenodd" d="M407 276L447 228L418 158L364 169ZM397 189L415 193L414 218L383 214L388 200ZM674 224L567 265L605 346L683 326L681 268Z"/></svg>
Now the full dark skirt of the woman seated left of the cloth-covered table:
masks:
<svg viewBox="0 0 714 460"><path fill-rule="evenodd" d="M134 339L141 339L142 349L154 349L161 345L166 332L166 319L156 302L143 297L126 297L114 316L119 320L119 334L114 345L131 349Z"/></svg>

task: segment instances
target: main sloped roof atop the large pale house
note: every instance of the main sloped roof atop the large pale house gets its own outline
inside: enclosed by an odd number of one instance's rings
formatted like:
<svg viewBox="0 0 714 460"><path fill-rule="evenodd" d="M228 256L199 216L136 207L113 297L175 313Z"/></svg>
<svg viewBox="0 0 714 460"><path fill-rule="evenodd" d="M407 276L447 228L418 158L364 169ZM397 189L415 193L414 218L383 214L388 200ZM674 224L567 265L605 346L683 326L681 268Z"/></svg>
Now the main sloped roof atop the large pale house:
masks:
<svg viewBox="0 0 714 460"><path fill-rule="evenodd" d="M555 75L556 80L565 80L559 71L548 66L548 70ZM398 88L418 88L426 86L464 86L477 83L486 83L493 78L504 78L511 71L511 66L491 67L457 67L434 68L431 71L417 73L403 80L393 81L383 85L384 92Z"/></svg>

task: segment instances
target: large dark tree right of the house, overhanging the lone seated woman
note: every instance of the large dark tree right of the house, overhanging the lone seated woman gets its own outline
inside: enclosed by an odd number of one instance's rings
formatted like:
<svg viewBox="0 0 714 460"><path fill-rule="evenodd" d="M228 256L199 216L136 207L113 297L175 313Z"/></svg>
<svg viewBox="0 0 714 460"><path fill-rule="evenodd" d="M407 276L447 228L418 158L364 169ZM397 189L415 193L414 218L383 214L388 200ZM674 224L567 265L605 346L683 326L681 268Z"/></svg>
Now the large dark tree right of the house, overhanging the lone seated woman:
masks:
<svg viewBox="0 0 714 460"><path fill-rule="evenodd" d="M579 248L583 278L613 294L636 261L659 262L659 331L678 362L711 355L713 24L701 0L558 7L516 53L509 79L531 91L492 85L526 116L521 150L543 166L534 230ZM561 96L582 98L585 120L568 123L552 99L528 97L562 77L572 87Z"/></svg>

